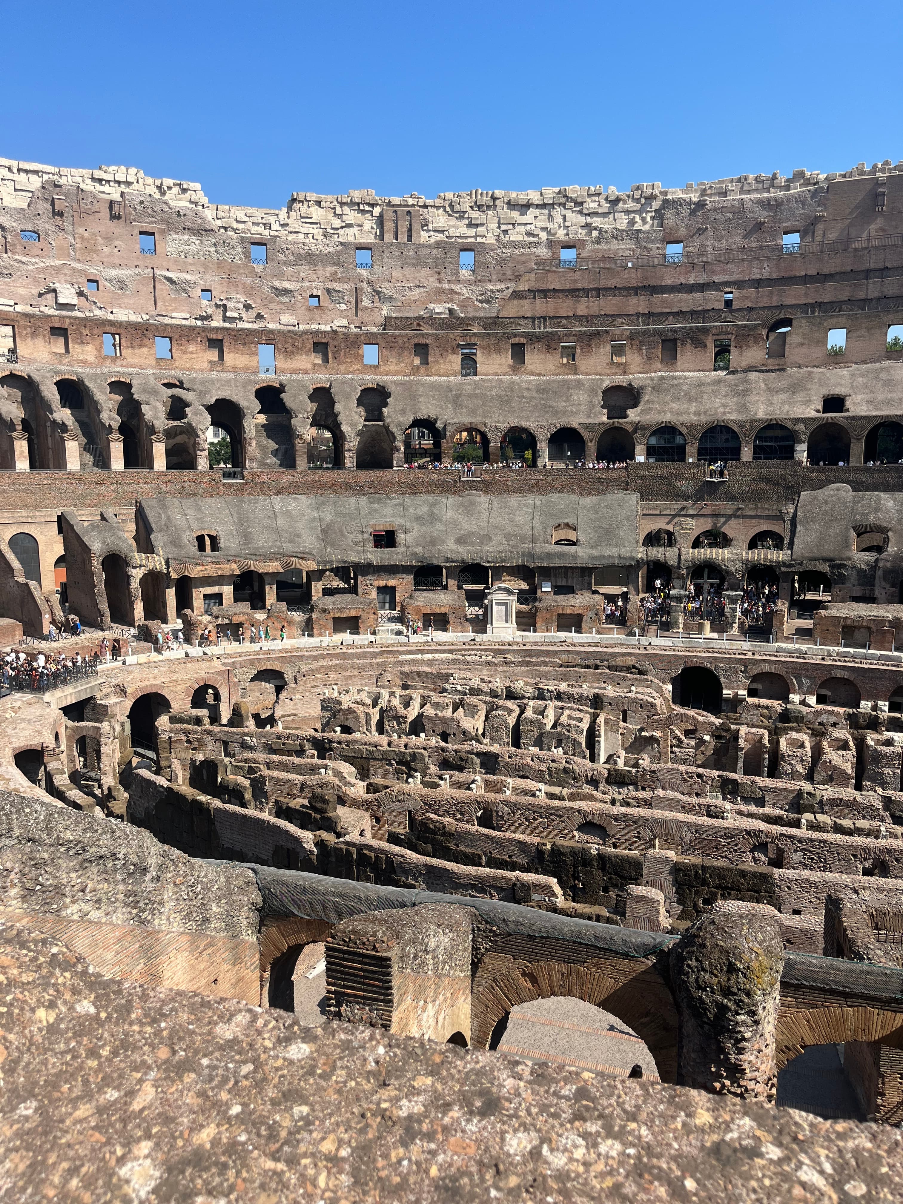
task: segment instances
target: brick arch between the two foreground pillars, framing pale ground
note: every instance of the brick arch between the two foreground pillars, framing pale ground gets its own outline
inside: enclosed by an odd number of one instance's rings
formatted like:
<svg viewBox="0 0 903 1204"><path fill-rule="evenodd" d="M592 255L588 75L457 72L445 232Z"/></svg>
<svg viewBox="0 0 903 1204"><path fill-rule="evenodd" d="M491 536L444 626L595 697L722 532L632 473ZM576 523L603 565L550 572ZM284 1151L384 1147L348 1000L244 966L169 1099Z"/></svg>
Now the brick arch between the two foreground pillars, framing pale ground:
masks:
<svg viewBox="0 0 903 1204"><path fill-rule="evenodd" d="M518 938L491 949L477 969L471 997L471 1046L488 1049L492 1029L520 1003L568 996L610 1011L641 1037L662 1082L677 1081L678 1016L657 967L644 957L588 952L549 942L549 958L519 956ZM557 956L556 956L557 955Z"/></svg>

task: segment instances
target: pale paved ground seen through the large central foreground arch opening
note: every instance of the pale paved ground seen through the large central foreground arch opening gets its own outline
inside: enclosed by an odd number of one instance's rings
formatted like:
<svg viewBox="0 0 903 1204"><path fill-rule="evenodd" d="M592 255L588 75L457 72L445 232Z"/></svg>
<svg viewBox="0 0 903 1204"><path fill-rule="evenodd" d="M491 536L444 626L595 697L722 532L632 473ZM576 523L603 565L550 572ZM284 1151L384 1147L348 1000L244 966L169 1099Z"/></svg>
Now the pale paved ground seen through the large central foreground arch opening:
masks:
<svg viewBox="0 0 903 1204"><path fill-rule="evenodd" d="M567 995L512 1008L496 1022L489 1049L625 1079L639 1066L644 1079L660 1079L649 1046L632 1028L610 1011Z"/></svg>

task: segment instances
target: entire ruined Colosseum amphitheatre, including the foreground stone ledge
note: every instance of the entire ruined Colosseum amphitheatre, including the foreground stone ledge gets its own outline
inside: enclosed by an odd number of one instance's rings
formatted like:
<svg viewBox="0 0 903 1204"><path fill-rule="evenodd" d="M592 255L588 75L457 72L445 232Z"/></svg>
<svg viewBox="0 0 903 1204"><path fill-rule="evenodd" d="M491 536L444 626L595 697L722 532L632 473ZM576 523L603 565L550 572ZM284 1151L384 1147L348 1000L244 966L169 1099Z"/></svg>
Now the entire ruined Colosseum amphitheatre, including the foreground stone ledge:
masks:
<svg viewBox="0 0 903 1204"><path fill-rule="evenodd" d="M899 1199L903 161L0 232L17 1198Z"/></svg>

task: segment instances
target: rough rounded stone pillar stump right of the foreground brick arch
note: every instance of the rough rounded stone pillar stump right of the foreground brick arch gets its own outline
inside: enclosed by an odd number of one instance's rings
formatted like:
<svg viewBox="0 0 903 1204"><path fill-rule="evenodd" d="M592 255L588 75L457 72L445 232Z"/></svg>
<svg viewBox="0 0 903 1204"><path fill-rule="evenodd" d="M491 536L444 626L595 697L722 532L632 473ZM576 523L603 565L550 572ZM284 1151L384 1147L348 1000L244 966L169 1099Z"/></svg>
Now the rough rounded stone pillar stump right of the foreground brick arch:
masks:
<svg viewBox="0 0 903 1204"><path fill-rule="evenodd" d="M671 951L678 1082L774 1102L784 943L759 903L710 907Z"/></svg>

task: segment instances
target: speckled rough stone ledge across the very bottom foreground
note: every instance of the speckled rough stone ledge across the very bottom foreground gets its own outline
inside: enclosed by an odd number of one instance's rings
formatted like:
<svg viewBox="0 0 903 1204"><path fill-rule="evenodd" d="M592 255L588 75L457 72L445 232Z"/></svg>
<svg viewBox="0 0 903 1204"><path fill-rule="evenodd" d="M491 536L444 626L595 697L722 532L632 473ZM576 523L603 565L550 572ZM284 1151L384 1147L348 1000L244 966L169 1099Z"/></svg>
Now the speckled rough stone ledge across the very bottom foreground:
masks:
<svg viewBox="0 0 903 1204"><path fill-rule="evenodd" d="M10 1199L898 1200L903 1135L101 978L0 927Z"/></svg>

